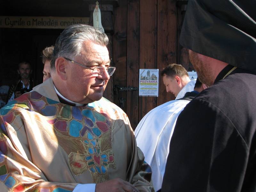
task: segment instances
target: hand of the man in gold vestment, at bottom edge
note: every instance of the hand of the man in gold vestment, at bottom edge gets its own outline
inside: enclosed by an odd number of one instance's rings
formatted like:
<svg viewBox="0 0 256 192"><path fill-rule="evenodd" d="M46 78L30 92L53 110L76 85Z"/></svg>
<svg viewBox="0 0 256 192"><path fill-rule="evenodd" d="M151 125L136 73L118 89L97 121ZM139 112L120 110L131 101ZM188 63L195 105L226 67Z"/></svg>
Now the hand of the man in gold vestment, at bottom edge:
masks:
<svg viewBox="0 0 256 192"><path fill-rule="evenodd" d="M95 192L111 191L111 192L139 192L131 183L120 178L112 179L96 184Z"/></svg>

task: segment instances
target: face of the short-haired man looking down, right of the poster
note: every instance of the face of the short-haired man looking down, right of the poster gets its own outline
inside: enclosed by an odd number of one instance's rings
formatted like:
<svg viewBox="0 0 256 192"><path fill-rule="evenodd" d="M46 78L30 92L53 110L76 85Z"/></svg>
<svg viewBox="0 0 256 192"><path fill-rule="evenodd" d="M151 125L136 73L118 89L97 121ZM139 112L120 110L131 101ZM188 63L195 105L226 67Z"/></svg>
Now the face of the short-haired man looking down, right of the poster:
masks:
<svg viewBox="0 0 256 192"><path fill-rule="evenodd" d="M177 97L178 93L181 90L181 87L179 86L175 77L164 75L163 82L166 88L166 92L171 92L172 94L174 94L175 97Z"/></svg>

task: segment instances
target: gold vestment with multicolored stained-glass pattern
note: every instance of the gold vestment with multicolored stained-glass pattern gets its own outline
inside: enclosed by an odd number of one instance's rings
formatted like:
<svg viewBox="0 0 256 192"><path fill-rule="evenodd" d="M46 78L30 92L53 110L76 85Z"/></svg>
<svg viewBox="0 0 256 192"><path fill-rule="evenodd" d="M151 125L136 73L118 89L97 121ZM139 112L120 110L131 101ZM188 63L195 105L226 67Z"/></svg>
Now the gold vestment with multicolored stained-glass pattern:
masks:
<svg viewBox="0 0 256 192"><path fill-rule="evenodd" d="M63 104L52 79L0 110L3 191L66 192L114 178L153 191L126 114L102 98Z"/></svg>

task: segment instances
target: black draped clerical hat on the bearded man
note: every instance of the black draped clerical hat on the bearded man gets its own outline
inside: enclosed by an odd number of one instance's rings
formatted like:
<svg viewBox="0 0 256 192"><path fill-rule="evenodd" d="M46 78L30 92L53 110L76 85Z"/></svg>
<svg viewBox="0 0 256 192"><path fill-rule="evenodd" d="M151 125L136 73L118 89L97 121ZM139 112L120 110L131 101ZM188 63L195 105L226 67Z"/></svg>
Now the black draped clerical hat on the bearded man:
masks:
<svg viewBox="0 0 256 192"><path fill-rule="evenodd" d="M189 0L180 44L256 72L255 20L255 0Z"/></svg>

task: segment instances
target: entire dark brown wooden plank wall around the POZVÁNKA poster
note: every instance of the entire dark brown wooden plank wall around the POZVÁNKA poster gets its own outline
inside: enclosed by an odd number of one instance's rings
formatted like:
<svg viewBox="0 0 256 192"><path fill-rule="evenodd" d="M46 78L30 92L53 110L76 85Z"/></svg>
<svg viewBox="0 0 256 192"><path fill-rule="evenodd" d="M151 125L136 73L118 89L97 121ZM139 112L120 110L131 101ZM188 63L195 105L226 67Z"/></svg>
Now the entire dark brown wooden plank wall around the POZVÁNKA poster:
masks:
<svg viewBox="0 0 256 192"><path fill-rule="evenodd" d="M168 64L182 64L184 60L186 69L189 65L186 51L181 54L182 47L178 46L182 15L175 0L121 0L119 5L114 17L114 87L139 87L140 68L158 68L160 77L159 97L139 97L138 91L114 95L114 102L127 113L134 130L151 109L174 99L165 91L160 71ZM183 56L186 58L182 59ZM121 98L126 100L123 106Z"/></svg>

